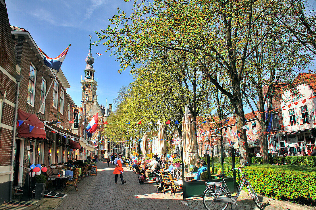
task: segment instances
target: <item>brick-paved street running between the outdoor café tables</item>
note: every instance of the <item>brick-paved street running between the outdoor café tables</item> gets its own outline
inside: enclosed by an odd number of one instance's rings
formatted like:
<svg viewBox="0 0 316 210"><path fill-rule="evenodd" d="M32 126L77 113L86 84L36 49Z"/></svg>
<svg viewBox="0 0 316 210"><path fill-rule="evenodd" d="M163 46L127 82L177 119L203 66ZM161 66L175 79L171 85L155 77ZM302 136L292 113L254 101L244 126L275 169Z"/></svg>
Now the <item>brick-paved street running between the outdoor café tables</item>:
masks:
<svg viewBox="0 0 316 210"><path fill-rule="evenodd" d="M64 199L45 198L40 207L35 209L205 209L201 198L187 199L183 201L182 191L179 190L175 197L170 196L170 188L166 194L156 192L155 183L139 184L134 172L125 170L126 183L114 184L113 165L107 167L106 162L97 163L97 176L86 177L78 184L78 193L73 187L67 189ZM285 207L285 205L279 205ZM238 198L238 206L232 206L234 210L258 208L251 198L241 195ZM265 210L286 209L271 204L264 204ZM228 206L230 209L230 206Z"/></svg>

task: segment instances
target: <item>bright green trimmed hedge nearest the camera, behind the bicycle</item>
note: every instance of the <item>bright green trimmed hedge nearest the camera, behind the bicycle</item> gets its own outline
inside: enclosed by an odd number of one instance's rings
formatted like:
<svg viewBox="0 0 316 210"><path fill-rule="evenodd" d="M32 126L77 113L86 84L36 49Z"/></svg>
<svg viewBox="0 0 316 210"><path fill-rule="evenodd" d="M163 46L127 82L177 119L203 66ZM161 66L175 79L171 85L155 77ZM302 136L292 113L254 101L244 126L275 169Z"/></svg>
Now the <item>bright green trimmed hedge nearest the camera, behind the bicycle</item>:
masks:
<svg viewBox="0 0 316 210"><path fill-rule="evenodd" d="M243 173L259 194L278 200L316 204L316 173L244 167ZM238 173L240 180L240 174Z"/></svg>

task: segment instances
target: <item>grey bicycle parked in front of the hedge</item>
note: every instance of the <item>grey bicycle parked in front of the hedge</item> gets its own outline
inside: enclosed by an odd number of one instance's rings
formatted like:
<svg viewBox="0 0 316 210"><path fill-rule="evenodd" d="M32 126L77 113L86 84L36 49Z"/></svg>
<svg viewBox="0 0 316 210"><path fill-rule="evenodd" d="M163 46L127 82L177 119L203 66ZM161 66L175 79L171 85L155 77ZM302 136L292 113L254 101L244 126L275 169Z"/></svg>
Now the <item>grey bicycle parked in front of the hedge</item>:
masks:
<svg viewBox="0 0 316 210"><path fill-rule="evenodd" d="M240 195L241 189L244 185L246 185L248 192L252 198L252 200L255 202L256 206L261 209L261 204L258 199L257 193L254 191L252 188L250 182L247 180L247 175L243 174L241 171L241 168L247 165L248 163L245 163L244 165L238 167L238 168L233 168L230 171L238 169L241 174L241 179L238 187L237 194L235 196L232 196L229 192L229 189L226 185L225 179L223 178L226 176L226 174L220 174L216 175L216 177L221 178L223 181L220 182L206 182L205 185L207 185L207 188L204 191L203 195L203 204L204 207L208 210L213 210L213 209L221 209L225 210L228 207L228 203L230 204L237 204L237 198ZM223 184L224 182L224 184Z"/></svg>

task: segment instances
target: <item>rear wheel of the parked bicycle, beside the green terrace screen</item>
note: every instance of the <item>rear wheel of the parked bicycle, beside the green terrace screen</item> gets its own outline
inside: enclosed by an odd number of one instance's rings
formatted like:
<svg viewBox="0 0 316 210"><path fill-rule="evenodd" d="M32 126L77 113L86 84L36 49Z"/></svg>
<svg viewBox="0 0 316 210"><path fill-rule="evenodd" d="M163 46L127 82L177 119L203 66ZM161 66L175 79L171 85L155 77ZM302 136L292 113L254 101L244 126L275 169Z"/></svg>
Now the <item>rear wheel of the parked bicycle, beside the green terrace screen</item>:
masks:
<svg viewBox="0 0 316 210"><path fill-rule="evenodd" d="M219 191L220 188L217 188L217 191ZM214 197L215 197L215 189L214 187L206 190L203 195L203 204L204 207L208 210L225 210L228 206L227 202L214 202ZM222 192L222 194L219 196L220 197L227 197L228 193L226 189Z"/></svg>

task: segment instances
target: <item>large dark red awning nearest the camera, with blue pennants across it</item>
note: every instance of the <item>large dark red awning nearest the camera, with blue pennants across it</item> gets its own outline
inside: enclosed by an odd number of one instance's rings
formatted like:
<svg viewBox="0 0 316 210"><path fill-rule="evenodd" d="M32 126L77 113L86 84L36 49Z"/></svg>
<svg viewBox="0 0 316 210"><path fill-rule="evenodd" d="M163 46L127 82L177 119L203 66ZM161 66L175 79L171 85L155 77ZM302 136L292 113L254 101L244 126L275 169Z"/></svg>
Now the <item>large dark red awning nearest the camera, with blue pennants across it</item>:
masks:
<svg viewBox="0 0 316 210"><path fill-rule="evenodd" d="M30 114L22 110L18 110L17 122L18 136L20 138L40 138L46 139L44 123L35 114ZM31 132L30 132L31 131Z"/></svg>

